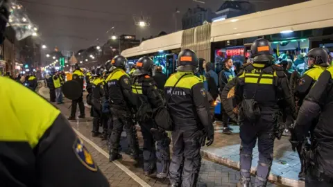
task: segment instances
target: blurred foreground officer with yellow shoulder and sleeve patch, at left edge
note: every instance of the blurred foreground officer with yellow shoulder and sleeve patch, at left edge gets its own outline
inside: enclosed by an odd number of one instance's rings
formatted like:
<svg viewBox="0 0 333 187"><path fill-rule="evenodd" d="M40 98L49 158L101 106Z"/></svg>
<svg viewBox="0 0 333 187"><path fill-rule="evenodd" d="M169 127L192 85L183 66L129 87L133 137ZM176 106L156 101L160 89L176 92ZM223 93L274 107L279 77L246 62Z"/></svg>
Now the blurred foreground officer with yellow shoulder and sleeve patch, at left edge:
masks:
<svg viewBox="0 0 333 187"><path fill-rule="evenodd" d="M8 7L0 0L0 43ZM110 186L58 109L14 80L0 85L1 186Z"/></svg>

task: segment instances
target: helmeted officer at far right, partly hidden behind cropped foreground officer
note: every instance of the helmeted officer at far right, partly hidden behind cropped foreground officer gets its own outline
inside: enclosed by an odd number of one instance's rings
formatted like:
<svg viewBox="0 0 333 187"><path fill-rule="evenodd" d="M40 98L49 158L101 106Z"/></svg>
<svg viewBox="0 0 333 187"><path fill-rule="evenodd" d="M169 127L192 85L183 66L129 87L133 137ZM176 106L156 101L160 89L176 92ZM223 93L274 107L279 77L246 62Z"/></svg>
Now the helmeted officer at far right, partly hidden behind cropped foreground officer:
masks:
<svg viewBox="0 0 333 187"><path fill-rule="evenodd" d="M325 71L327 66L330 66L328 62L323 62L320 58L326 55L327 52L325 51L325 48L312 48L309 53L307 53L309 70L305 71L300 80L298 80L298 85L295 90L295 96L299 99L299 107L302 105L305 96L309 93L314 82L318 80L319 76Z"/></svg>

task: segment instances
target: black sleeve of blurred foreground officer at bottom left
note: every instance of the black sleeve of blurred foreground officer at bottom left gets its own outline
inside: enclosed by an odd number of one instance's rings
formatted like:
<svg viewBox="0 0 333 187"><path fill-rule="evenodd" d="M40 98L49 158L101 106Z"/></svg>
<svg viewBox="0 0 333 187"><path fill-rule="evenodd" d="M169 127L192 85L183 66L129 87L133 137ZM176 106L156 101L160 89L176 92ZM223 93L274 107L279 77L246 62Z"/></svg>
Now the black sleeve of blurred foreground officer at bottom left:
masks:
<svg viewBox="0 0 333 187"><path fill-rule="evenodd" d="M85 146L76 146L78 142L82 140L76 137L65 116L60 114L34 150L40 186L110 186ZM80 151L76 147L86 150L83 154L86 159L76 153Z"/></svg>

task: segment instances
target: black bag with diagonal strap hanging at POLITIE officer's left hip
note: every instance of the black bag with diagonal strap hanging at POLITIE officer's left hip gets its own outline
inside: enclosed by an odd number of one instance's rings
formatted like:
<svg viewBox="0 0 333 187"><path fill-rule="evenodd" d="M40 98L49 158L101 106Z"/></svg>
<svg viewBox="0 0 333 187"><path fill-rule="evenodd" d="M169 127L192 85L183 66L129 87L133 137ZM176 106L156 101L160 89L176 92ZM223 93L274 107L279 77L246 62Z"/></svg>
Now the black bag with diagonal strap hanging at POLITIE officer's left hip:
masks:
<svg viewBox="0 0 333 187"><path fill-rule="evenodd" d="M169 98L167 99L167 103L169 103L169 100L171 98L171 96L173 95L173 89L176 88L178 82L187 74L184 74L182 75L178 81L176 82L176 84L173 86L173 88L171 89L171 94L169 96ZM167 103L166 105L164 105L163 107L158 107L157 109L154 109L153 110L153 118L154 118L154 121L155 121L155 124L164 129L164 130L173 130L173 121L172 121L172 118L170 116L170 113L169 113L169 107L167 106Z"/></svg>

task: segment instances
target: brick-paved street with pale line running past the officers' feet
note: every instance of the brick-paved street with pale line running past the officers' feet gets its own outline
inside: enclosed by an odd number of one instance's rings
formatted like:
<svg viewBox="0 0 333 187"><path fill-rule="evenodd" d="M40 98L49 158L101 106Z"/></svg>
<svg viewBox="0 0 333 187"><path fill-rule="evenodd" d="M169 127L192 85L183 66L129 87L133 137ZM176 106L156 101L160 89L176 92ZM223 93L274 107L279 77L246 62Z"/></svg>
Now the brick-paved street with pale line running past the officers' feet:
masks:
<svg viewBox="0 0 333 187"><path fill-rule="evenodd" d="M42 88L47 90L45 88ZM47 98L47 94L44 91L40 91L41 95ZM85 97L84 97L85 98ZM58 109L66 117L70 114L71 100L65 99L65 104L56 105ZM110 181L111 186L156 186L167 187L169 179L157 179L146 177L142 170L142 166L130 159L126 154L127 142L125 139L126 134L123 132L121 137L121 148L123 159L119 161L109 162L108 160L108 147L106 141L101 141L99 137L92 137L92 118L89 117L90 109L85 107L85 119L77 121L70 121L71 127L81 139L85 142L87 149L94 157L94 161L97 163L105 177ZM78 116L78 112L77 115ZM139 127L137 127L139 128ZM143 140L141 132L138 131L139 145L142 148ZM254 182L255 177L252 177ZM218 163L214 163L210 160L203 158L200 168L200 175L198 180L198 186L207 187L221 187L221 186L237 186L239 181L239 171L233 168L228 168ZM275 184L269 184L268 186L277 186Z"/></svg>

